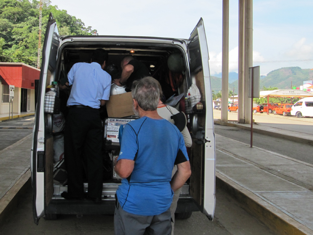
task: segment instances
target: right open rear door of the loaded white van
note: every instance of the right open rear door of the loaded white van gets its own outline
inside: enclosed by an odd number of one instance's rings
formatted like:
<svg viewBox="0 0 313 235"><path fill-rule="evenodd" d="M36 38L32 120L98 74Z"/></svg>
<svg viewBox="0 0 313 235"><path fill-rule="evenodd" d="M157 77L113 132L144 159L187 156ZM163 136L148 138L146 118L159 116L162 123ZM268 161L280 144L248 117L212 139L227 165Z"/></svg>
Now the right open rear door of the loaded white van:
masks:
<svg viewBox="0 0 313 235"><path fill-rule="evenodd" d="M209 54L202 18L192 31L187 48L190 82L199 88L203 104L202 112L192 111L190 114L193 138L190 194L201 212L212 220L215 210L215 136Z"/></svg>

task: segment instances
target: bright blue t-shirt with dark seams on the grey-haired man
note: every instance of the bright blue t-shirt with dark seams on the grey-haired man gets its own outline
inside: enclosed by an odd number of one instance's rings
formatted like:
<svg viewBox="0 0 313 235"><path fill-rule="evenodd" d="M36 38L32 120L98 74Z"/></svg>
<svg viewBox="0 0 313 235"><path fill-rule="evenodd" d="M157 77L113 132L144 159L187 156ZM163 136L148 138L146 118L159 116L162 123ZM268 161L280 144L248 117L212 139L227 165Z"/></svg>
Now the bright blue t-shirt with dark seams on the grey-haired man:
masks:
<svg viewBox="0 0 313 235"><path fill-rule="evenodd" d="M134 170L122 179L116 194L123 210L157 215L170 208L174 163L188 161L184 139L166 119L139 118L127 123L122 134L121 159L134 160Z"/></svg>

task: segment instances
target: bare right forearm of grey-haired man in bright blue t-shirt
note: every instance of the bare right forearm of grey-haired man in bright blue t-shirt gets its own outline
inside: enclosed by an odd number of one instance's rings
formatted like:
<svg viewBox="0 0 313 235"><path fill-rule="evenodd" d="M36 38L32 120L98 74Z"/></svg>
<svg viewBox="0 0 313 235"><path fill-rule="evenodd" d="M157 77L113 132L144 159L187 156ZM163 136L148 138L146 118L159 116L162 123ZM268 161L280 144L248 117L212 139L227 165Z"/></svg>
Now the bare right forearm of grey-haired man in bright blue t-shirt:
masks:
<svg viewBox="0 0 313 235"><path fill-rule="evenodd" d="M171 188L175 192L181 188L191 175L189 161L177 164L177 171L171 180Z"/></svg>

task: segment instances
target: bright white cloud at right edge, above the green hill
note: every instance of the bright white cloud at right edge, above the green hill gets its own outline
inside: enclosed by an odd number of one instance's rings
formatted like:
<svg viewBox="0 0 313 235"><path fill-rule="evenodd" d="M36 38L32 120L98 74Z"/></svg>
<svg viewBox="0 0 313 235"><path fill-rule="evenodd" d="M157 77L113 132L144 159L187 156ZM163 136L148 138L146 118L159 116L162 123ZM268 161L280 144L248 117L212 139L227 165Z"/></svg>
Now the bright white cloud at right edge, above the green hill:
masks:
<svg viewBox="0 0 313 235"><path fill-rule="evenodd" d="M298 42L292 45L292 48L285 54L292 59L312 59L313 43L306 44L307 39L301 38Z"/></svg>

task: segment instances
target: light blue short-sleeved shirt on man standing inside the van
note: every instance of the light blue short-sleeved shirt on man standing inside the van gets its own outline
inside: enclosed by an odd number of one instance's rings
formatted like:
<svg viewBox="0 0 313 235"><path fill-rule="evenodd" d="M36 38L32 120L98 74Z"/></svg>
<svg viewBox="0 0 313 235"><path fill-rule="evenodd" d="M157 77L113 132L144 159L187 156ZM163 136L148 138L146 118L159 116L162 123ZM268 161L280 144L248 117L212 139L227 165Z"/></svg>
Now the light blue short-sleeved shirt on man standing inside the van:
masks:
<svg viewBox="0 0 313 235"><path fill-rule="evenodd" d="M100 100L109 100L111 76L98 63L76 63L67 74L68 84L73 85L67 106L85 105L100 108Z"/></svg>

